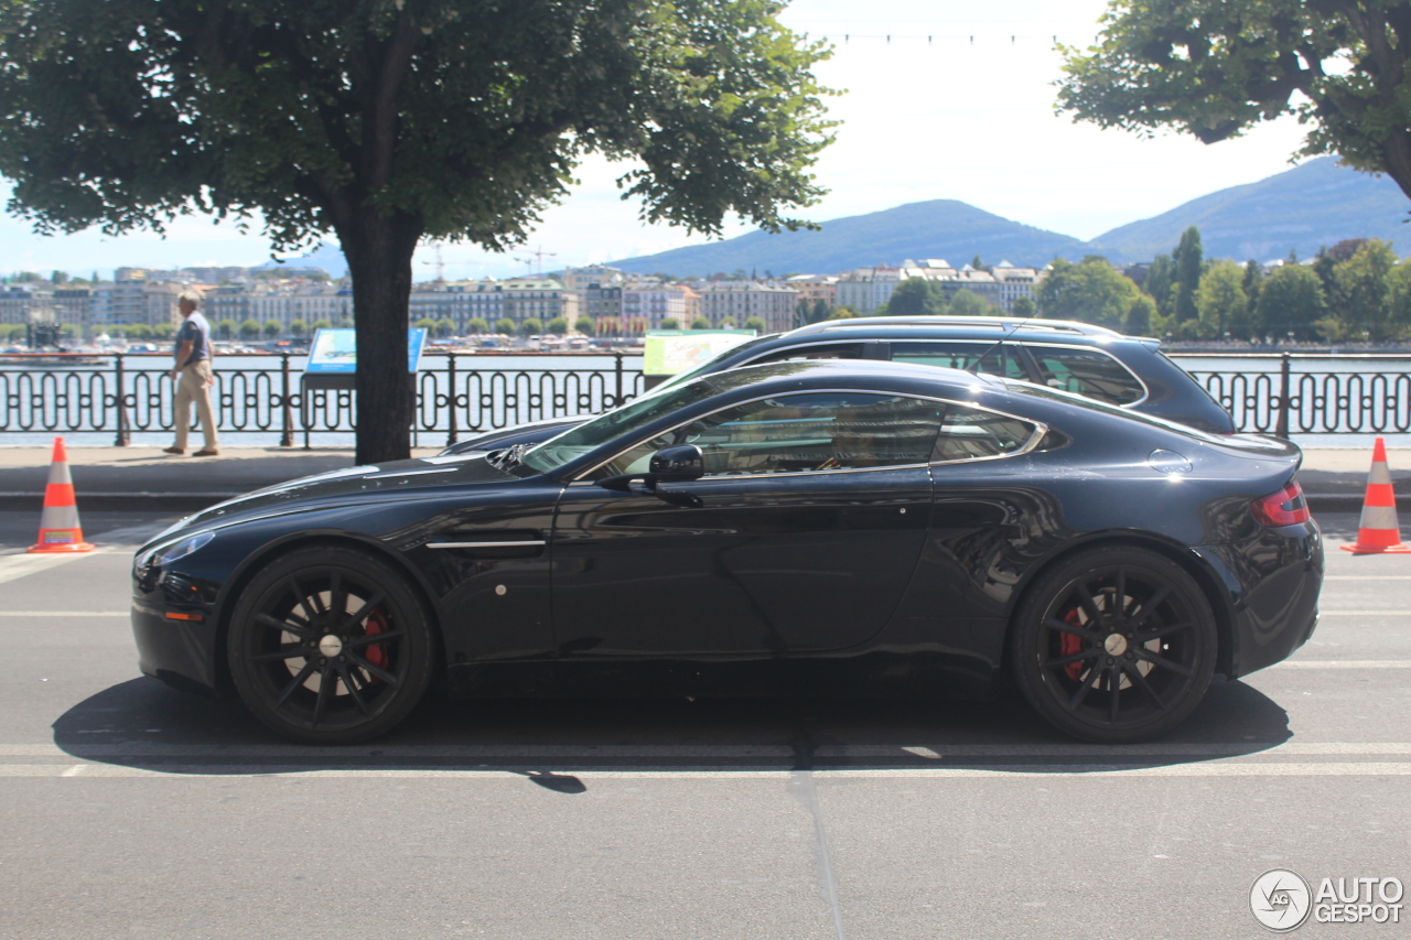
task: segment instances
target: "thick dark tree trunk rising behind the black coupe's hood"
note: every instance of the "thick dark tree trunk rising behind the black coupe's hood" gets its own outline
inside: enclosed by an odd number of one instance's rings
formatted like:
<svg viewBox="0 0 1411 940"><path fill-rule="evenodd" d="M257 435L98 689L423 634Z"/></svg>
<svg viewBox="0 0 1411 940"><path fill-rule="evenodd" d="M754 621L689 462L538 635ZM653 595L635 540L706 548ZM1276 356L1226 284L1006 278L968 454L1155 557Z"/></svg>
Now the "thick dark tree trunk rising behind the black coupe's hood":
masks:
<svg viewBox="0 0 1411 940"><path fill-rule="evenodd" d="M357 462L387 463L412 456L416 392L406 367L412 253L422 220L364 209L339 231L353 278L357 327Z"/></svg>

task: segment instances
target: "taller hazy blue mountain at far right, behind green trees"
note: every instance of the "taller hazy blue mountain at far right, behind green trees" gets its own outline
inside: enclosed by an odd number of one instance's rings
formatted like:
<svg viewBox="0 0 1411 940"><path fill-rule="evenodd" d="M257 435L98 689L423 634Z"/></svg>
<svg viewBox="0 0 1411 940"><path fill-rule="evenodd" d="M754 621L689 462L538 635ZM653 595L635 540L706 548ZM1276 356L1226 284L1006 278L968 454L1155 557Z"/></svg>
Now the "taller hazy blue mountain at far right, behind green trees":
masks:
<svg viewBox="0 0 1411 940"><path fill-rule="evenodd" d="M1113 229L1094 239L1092 250L1112 260L1147 261L1174 248L1181 233L1197 226L1208 258L1274 261L1288 257L1290 250L1309 258L1319 246L1343 239L1383 239L1408 255L1407 209L1405 195L1386 176L1321 157Z"/></svg>

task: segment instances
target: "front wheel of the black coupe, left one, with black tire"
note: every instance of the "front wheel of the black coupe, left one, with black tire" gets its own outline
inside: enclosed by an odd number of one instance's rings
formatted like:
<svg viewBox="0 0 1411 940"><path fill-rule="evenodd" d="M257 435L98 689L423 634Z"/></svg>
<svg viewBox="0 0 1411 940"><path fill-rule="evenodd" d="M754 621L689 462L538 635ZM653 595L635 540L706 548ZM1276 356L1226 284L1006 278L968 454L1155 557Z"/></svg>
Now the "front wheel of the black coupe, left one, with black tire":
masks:
<svg viewBox="0 0 1411 940"><path fill-rule="evenodd" d="M240 594L226 648L246 707L305 744L387 734L426 693L435 661L430 617L406 579L337 546L261 569Z"/></svg>

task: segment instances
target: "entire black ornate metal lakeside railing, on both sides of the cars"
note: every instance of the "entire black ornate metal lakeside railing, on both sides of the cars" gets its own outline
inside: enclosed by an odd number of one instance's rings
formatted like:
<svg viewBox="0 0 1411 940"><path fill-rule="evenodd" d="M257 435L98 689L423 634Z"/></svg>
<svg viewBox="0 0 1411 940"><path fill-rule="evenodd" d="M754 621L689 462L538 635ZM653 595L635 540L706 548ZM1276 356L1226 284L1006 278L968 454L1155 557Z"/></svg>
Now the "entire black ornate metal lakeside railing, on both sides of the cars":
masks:
<svg viewBox="0 0 1411 940"><path fill-rule="evenodd" d="M312 435L356 430L354 392L305 390L302 371L291 361L302 357L279 353L258 366L226 366L222 358L216 358L212 395L222 435L278 435L288 447L301 436L308 446ZM466 433L598 414L645 388L642 371L628 367L622 353L540 354L535 366L521 360L501 367L497 358L423 356L413 430L444 433L446 443L454 443ZM1280 436L1411 432L1411 356L1173 358L1191 363L1191 374L1229 409L1240 430ZM1191 360L1239 360L1240 367L1204 368ZM171 430L175 384L169 364L165 354L117 353L47 356L42 366L20 357L0 360L0 433L107 432L114 445L126 446L134 433Z"/></svg>

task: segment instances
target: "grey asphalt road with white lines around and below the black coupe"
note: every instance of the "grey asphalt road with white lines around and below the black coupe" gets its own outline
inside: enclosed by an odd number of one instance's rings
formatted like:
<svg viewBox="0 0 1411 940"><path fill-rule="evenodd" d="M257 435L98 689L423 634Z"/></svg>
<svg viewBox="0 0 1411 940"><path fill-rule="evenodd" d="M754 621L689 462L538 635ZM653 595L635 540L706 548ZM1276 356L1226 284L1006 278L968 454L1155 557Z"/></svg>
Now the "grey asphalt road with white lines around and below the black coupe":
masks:
<svg viewBox="0 0 1411 940"><path fill-rule="evenodd" d="M1204 940L1266 936L1270 868L1411 882L1411 556L1331 550L1312 642L1151 745L1015 700L650 700L310 749L138 677L164 522L85 514L103 550L58 562L34 522L0 514L0 937Z"/></svg>

